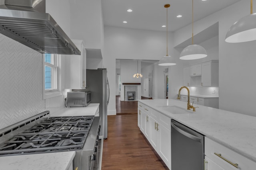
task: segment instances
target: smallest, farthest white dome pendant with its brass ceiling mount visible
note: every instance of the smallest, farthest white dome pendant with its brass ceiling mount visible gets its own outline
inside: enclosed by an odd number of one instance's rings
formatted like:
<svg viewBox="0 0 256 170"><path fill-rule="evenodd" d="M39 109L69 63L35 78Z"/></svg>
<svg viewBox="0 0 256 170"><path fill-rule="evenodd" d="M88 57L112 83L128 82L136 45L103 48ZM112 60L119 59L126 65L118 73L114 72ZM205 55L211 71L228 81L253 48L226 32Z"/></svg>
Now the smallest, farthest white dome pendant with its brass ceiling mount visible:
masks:
<svg viewBox="0 0 256 170"><path fill-rule="evenodd" d="M168 13L167 9L170 7L170 4L165 4L164 8L166 8L166 56L162 57L158 62L160 66L172 66L176 65L174 62L174 58L168 55Z"/></svg>

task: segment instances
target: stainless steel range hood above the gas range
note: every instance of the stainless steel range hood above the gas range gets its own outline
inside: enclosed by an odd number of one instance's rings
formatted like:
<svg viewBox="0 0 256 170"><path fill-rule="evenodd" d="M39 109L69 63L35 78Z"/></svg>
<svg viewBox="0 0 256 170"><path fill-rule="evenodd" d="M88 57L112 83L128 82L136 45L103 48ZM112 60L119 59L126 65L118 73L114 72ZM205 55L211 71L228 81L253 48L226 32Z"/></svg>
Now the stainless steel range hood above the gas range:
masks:
<svg viewBox="0 0 256 170"><path fill-rule="evenodd" d="M0 33L40 53L80 55L79 49L45 13L45 0L5 0Z"/></svg>

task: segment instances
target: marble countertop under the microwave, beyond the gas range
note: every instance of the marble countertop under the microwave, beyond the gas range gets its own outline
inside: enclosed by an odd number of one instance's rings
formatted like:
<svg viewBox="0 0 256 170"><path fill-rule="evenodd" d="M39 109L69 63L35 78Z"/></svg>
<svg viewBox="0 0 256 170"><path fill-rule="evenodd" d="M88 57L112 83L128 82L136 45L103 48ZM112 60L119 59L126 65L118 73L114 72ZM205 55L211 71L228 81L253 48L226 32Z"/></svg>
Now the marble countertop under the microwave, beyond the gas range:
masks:
<svg viewBox="0 0 256 170"><path fill-rule="evenodd" d="M90 103L86 107L64 107L58 111L50 112L51 117L54 116L89 116L96 115L96 111L100 104Z"/></svg>

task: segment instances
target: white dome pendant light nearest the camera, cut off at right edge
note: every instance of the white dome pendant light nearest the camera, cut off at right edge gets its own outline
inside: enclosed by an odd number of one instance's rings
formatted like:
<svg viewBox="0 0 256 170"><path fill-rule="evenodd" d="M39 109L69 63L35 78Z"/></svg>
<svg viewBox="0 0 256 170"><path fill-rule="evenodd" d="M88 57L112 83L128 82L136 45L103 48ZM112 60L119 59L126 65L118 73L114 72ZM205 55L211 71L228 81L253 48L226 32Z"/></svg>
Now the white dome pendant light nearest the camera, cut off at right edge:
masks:
<svg viewBox="0 0 256 170"><path fill-rule="evenodd" d="M228 30L225 41L228 43L242 43L256 40L256 13L251 14L236 21Z"/></svg>

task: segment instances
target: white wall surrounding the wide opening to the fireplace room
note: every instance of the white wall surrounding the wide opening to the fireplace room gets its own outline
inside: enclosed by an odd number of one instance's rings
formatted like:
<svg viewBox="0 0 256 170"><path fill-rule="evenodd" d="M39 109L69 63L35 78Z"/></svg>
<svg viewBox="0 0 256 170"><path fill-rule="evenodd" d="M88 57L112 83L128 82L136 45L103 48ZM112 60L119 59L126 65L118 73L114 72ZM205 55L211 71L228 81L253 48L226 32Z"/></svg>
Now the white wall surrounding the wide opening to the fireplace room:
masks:
<svg viewBox="0 0 256 170"><path fill-rule="evenodd" d="M168 33L168 46L169 55L177 56L178 51L172 49L172 33ZM108 104L108 113L116 114L116 59L148 59L148 60L159 60L161 57L166 55L166 33L160 31L146 31L140 29L125 29L119 27L104 27L104 66L108 69L108 79L110 81L110 103ZM161 78L163 78L164 68L160 67ZM183 67L183 66L182 66ZM178 67L177 67L178 68ZM154 69L157 70L157 69ZM178 72L177 75L183 75L182 72ZM122 76L122 75L121 75ZM158 77L158 76L157 76ZM159 77L159 78L160 78ZM154 76L154 82L157 80ZM158 82L164 82L158 81ZM156 81L156 83L158 83ZM113 84L113 85L112 85ZM157 86L154 84L154 86ZM155 98L163 98L162 94L158 91L162 91L159 87L155 93ZM154 95L154 94L153 94Z"/></svg>

